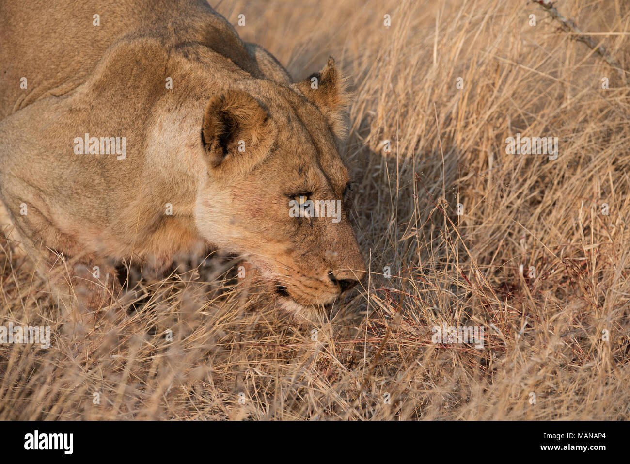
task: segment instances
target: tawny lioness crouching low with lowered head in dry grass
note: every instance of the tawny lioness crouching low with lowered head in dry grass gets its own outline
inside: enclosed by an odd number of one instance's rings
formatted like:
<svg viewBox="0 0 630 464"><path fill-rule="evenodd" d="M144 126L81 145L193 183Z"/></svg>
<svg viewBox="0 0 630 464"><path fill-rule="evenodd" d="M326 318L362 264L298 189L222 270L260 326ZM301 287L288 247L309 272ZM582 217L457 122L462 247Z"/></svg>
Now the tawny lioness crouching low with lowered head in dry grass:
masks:
<svg viewBox="0 0 630 464"><path fill-rule="evenodd" d="M203 0L2 2L0 44L5 230L42 274L64 267L52 288L98 308L121 260L214 246L299 315L364 275L333 59L293 83ZM343 203L335 221L292 200Z"/></svg>

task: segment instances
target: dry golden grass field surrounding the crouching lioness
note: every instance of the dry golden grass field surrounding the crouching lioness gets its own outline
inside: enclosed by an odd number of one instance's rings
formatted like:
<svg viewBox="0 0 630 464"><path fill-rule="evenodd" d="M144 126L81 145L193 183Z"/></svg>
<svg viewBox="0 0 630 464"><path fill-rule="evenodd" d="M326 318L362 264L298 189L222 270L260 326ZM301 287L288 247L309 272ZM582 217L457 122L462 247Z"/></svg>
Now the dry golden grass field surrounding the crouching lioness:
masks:
<svg viewBox="0 0 630 464"><path fill-rule="evenodd" d="M555 5L630 69L625 1ZM0 419L629 417L622 71L526 0L213 6L295 79L328 55L349 77L369 278L299 325L215 253L163 280L132 268L134 304L70 320L0 238L0 325L52 334L0 345ZM507 154L517 133L558 137L558 158ZM443 324L484 327L483 347L434 344Z"/></svg>

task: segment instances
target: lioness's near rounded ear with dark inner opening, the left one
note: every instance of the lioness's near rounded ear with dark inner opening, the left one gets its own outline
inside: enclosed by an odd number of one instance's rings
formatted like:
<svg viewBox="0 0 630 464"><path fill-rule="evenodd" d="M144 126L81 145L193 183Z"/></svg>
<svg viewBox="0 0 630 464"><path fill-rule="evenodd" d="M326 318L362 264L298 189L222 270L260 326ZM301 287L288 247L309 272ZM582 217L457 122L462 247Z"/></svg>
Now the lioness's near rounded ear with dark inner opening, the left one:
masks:
<svg viewBox="0 0 630 464"><path fill-rule="evenodd" d="M246 154L264 151L269 138L266 110L242 90L214 95L203 113L203 147L212 166L228 156L251 159Z"/></svg>

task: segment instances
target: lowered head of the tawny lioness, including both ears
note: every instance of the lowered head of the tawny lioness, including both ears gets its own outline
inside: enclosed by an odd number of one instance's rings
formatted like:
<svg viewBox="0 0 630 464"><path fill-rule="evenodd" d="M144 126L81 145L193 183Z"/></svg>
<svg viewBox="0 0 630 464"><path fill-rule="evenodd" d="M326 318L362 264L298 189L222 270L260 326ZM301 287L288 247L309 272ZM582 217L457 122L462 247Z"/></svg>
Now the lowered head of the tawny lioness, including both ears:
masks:
<svg viewBox="0 0 630 464"><path fill-rule="evenodd" d="M365 274L348 217L352 186L336 147L346 100L329 59L299 83L234 83L210 98L203 115L199 233L244 253L298 316L332 303Z"/></svg>

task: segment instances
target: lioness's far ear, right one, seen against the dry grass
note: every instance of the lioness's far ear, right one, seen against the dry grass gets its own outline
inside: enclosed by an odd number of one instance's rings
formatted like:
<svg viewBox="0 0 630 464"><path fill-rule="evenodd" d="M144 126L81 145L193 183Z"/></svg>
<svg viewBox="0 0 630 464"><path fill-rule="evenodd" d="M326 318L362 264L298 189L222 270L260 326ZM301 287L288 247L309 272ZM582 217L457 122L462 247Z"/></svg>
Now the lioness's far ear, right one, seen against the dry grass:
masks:
<svg viewBox="0 0 630 464"><path fill-rule="evenodd" d="M345 80L337 71L333 57L329 57L321 71L311 74L304 81L292 84L294 89L301 91L307 100L318 107L335 136L340 139L347 133L345 109L350 100Z"/></svg>

